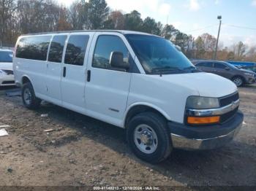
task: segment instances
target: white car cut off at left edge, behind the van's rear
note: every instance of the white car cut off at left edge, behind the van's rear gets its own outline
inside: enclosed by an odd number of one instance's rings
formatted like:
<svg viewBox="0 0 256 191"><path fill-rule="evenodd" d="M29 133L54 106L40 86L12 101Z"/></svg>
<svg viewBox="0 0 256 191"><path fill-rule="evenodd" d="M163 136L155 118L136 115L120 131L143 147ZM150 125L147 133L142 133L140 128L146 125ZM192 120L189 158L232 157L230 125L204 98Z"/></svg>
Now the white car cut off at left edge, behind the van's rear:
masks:
<svg viewBox="0 0 256 191"><path fill-rule="evenodd" d="M0 49L0 86L15 85L12 71L12 50Z"/></svg>

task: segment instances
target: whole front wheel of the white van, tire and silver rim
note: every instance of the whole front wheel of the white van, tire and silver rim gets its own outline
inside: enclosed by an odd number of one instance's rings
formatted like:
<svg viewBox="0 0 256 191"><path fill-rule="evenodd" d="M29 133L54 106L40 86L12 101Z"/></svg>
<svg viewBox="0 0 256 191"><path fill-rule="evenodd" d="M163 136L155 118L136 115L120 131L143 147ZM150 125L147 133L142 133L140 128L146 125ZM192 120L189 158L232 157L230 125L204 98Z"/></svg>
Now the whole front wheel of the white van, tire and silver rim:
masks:
<svg viewBox="0 0 256 191"><path fill-rule="evenodd" d="M135 155L148 163L165 160L173 148L165 118L153 112L138 114L128 122L127 140Z"/></svg>

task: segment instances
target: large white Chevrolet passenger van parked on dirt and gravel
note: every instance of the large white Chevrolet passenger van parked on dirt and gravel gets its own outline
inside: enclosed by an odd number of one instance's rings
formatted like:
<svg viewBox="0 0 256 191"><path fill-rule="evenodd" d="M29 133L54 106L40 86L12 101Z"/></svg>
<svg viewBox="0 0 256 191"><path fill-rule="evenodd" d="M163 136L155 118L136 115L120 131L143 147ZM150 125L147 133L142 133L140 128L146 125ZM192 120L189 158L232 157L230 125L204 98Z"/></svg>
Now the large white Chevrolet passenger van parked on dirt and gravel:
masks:
<svg viewBox="0 0 256 191"><path fill-rule="evenodd" d="M135 31L67 31L18 38L15 82L41 100L127 129L135 155L159 163L173 148L214 149L241 128L235 84L197 71L168 40Z"/></svg>

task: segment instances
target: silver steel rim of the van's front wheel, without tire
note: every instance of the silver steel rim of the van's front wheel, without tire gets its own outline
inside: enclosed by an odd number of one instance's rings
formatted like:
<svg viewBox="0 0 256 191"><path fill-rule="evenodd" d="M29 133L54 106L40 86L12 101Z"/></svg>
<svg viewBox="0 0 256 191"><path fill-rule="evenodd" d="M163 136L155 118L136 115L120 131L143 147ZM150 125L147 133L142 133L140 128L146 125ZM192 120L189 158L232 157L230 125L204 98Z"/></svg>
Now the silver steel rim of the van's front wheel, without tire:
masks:
<svg viewBox="0 0 256 191"><path fill-rule="evenodd" d="M134 140L136 147L146 154L151 154L157 149L157 133L146 124L135 128Z"/></svg>

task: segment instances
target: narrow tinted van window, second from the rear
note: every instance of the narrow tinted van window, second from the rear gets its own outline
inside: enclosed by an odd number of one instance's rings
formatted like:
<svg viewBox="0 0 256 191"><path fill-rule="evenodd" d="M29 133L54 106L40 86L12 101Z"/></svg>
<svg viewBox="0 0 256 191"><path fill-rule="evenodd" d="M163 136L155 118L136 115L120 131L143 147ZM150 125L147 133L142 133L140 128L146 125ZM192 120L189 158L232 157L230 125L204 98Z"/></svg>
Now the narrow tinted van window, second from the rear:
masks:
<svg viewBox="0 0 256 191"><path fill-rule="evenodd" d="M48 61L61 63L66 39L67 35L58 35L53 37L53 40L50 43Z"/></svg>

